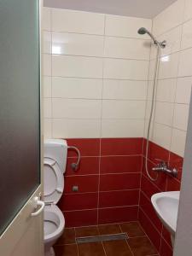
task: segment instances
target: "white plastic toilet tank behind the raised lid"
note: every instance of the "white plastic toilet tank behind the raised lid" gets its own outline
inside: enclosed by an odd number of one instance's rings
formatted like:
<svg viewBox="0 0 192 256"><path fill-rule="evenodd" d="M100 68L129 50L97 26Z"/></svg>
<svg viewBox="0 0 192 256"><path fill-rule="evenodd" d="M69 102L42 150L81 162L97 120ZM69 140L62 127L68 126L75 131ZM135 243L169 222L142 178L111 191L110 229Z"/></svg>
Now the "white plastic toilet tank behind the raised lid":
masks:
<svg viewBox="0 0 192 256"><path fill-rule="evenodd" d="M47 139L44 141L44 157L57 162L61 172L66 172L67 164L67 141L61 139Z"/></svg>

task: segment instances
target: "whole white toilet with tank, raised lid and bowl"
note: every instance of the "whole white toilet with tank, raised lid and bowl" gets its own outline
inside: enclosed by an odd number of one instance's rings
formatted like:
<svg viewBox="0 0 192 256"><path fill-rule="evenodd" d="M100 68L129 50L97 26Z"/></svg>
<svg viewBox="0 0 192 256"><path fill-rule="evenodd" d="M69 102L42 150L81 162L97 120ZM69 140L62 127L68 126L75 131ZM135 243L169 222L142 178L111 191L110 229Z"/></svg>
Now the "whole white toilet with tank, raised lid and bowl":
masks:
<svg viewBox="0 0 192 256"><path fill-rule="evenodd" d="M44 142L44 253L54 256L53 245L65 227L65 218L56 206L64 189L67 142L50 139Z"/></svg>

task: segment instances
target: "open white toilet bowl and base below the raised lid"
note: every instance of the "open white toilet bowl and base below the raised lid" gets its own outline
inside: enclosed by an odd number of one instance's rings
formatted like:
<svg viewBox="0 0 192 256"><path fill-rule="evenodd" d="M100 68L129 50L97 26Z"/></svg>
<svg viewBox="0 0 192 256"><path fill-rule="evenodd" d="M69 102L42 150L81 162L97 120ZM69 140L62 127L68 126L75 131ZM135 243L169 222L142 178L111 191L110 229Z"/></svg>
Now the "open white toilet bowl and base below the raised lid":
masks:
<svg viewBox="0 0 192 256"><path fill-rule="evenodd" d="M52 246L62 235L65 227L65 218L57 206L44 207L44 253L46 256L55 256Z"/></svg>

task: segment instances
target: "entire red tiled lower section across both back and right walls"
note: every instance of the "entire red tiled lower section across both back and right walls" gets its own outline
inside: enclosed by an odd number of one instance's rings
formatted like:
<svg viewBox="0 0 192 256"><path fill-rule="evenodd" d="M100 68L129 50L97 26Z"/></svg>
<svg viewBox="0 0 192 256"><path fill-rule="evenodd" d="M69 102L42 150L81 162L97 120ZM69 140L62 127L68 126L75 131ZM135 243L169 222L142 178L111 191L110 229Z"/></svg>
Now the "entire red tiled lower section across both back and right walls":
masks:
<svg viewBox="0 0 192 256"><path fill-rule="evenodd" d="M172 255L169 232L162 226L150 198L158 192L179 190L183 158L149 143L148 170L157 159L176 167L178 177L159 173L151 181L146 173L143 138L67 139L81 153L79 170L73 172L70 164L77 160L73 150L68 152L65 173L65 193L59 207L64 212L66 226L108 224L139 219L160 256ZM73 185L79 187L73 192Z"/></svg>

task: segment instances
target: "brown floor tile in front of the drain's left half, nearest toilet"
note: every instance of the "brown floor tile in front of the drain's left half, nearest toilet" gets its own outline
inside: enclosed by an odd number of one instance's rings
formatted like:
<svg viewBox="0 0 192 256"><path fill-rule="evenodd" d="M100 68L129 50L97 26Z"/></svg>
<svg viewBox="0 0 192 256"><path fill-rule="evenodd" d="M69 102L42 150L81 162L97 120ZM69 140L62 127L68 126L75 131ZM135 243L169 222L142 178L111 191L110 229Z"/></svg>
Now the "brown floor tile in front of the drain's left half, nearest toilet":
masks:
<svg viewBox="0 0 192 256"><path fill-rule="evenodd" d="M79 256L105 256L101 242L78 244Z"/></svg>

